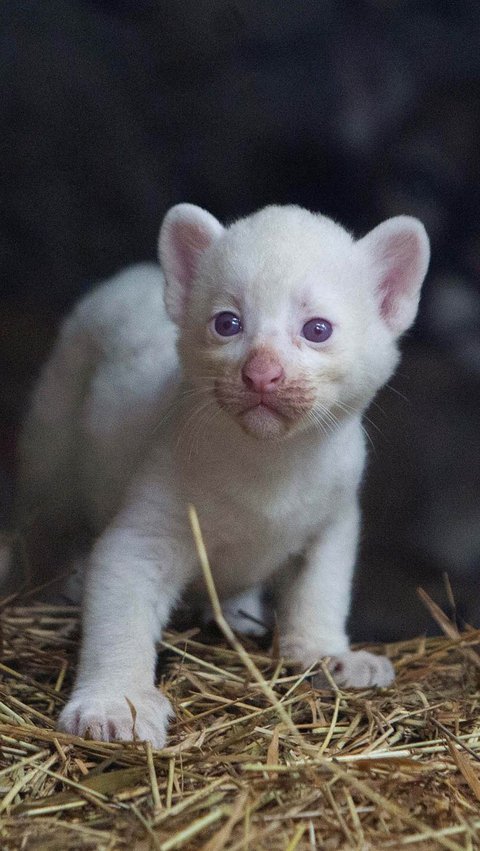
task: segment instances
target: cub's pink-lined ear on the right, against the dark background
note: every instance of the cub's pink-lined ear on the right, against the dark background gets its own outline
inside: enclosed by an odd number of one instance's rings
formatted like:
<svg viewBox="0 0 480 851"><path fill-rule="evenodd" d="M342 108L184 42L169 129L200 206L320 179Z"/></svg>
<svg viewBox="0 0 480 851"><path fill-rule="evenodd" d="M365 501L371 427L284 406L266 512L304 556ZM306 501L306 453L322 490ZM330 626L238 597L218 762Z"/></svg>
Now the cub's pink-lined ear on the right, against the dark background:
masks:
<svg viewBox="0 0 480 851"><path fill-rule="evenodd" d="M358 243L370 256L380 314L399 336L417 314L427 273L430 243L422 223L411 216L387 219Z"/></svg>

